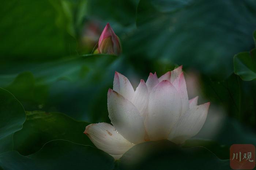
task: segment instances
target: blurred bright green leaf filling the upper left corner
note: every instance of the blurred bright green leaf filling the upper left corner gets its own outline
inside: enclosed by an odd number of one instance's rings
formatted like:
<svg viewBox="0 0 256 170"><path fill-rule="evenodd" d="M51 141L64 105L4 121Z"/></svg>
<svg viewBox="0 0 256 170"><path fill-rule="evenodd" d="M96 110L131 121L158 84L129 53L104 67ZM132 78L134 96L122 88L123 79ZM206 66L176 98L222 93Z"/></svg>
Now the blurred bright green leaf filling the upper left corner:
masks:
<svg viewBox="0 0 256 170"><path fill-rule="evenodd" d="M0 7L2 60L53 59L76 54L60 1L3 1Z"/></svg>

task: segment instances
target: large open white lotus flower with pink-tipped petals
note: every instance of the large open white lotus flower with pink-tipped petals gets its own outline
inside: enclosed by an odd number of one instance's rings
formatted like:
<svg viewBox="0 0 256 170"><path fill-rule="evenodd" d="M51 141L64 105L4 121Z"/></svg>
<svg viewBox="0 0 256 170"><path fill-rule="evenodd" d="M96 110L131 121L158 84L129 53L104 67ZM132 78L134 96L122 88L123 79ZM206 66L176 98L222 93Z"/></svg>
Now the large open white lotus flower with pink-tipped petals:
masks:
<svg viewBox="0 0 256 170"><path fill-rule="evenodd" d="M108 91L111 124L96 123L84 133L98 149L118 159L133 145L168 139L182 143L202 128L210 103L197 105L198 97L188 100L182 66L157 78L140 80L136 90L116 72L113 90Z"/></svg>

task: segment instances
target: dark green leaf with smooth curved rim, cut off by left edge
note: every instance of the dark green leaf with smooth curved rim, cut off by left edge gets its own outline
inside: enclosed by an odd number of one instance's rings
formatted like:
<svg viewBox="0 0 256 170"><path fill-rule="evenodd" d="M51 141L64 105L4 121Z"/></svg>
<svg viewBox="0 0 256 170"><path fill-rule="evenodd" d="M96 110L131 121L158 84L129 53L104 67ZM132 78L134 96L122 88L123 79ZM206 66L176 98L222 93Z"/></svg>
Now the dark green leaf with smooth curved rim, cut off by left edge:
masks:
<svg viewBox="0 0 256 170"><path fill-rule="evenodd" d="M0 88L0 153L13 149L13 135L22 129L26 114L20 102L7 90Z"/></svg>

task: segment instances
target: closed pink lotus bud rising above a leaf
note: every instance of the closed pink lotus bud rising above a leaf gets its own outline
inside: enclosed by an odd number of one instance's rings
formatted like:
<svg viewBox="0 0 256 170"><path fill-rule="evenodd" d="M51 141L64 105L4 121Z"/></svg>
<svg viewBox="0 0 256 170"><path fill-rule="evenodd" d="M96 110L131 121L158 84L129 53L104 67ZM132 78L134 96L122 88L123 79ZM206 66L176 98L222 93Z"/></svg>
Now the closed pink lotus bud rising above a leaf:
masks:
<svg viewBox="0 0 256 170"><path fill-rule="evenodd" d="M119 55L121 51L120 40L108 23L99 37L98 48L94 53Z"/></svg>

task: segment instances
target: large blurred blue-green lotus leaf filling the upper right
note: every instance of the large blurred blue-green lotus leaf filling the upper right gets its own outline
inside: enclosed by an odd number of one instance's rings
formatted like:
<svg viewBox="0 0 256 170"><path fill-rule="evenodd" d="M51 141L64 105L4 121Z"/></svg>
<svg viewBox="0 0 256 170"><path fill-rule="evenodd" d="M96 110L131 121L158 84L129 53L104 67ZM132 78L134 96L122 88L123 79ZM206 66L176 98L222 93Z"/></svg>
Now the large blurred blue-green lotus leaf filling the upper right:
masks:
<svg viewBox="0 0 256 170"><path fill-rule="evenodd" d="M233 72L233 56L253 45L256 2L140 0L136 23L123 41L134 63L161 60L222 79Z"/></svg>

